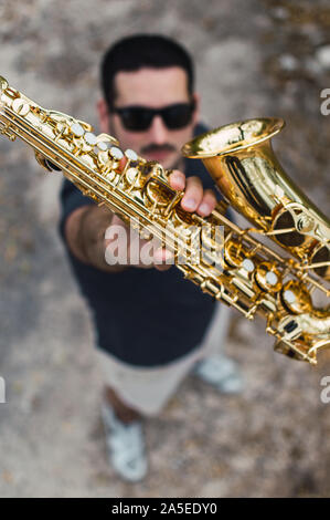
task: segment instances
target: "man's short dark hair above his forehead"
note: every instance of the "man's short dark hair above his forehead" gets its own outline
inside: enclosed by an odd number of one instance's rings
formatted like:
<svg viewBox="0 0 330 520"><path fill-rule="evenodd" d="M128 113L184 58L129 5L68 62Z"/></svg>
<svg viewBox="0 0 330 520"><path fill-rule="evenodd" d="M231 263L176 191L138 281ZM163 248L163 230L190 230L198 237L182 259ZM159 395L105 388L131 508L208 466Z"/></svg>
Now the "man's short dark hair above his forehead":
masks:
<svg viewBox="0 0 330 520"><path fill-rule="evenodd" d="M116 97L115 74L146 67L180 66L187 72L188 92L193 90L193 63L181 44L158 34L136 34L124 38L105 53L100 65L100 87L109 110Z"/></svg>

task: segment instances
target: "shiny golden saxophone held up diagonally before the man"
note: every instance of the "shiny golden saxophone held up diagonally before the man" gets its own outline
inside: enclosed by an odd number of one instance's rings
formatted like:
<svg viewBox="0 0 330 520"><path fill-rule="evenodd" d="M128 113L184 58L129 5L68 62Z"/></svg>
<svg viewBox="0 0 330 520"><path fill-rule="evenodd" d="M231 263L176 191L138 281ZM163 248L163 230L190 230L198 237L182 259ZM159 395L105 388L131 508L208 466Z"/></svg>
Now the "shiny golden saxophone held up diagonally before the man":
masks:
<svg viewBox="0 0 330 520"><path fill-rule="evenodd" d="M124 154L117 139L96 136L88 123L42 108L0 76L1 134L23 139L41 166L62 170L84 195L136 226L145 238L151 231L202 291L249 320L263 315L277 352L316 364L317 351L330 346L329 303L318 306L313 301L315 293L324 300L330 295L330 225L272 150L270 138L283 126L279 118L249 119L183 146L185 157L203 160L224 197L202 218L182 209L183 193L170 187L160 164L126 150L127 163L120 168ZM254 227L241 229L230 221L224 215L228 205ZM221 245L210 226L224 227ZM199 262L192 227L209 245ZM265 238L284 251L265 245Z"/></svg>

